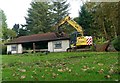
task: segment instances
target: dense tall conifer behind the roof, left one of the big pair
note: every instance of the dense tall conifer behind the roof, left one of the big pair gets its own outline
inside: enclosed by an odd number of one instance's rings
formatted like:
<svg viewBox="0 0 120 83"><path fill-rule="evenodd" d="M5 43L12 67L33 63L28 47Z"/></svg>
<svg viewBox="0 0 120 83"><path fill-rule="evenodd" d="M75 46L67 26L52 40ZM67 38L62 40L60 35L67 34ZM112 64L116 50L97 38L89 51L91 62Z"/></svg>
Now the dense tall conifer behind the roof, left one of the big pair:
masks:
<svg viewBox="0 0 120 83"><path fill-rule="evenodd" d="M32 2L26 17L26 28L30 34L45 33L51 28L50 5L47 2Z"/></svg>

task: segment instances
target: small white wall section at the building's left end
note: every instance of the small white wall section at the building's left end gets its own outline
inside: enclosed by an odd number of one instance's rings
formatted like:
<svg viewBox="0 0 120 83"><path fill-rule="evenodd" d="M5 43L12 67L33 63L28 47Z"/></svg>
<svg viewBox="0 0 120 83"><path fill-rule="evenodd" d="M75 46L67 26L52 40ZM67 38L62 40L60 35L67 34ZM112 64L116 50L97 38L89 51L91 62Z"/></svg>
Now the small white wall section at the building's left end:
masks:
<svg viewBox="0 0 120 83"><path fill-rule="evenodd" d="M14 49L13 49L14 47ZM7 45L7 54L11 52L12 54L16 53L22 53L22 44L13 44L13 45Z"/></svg>

